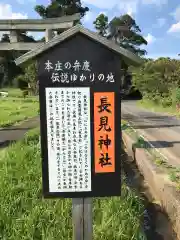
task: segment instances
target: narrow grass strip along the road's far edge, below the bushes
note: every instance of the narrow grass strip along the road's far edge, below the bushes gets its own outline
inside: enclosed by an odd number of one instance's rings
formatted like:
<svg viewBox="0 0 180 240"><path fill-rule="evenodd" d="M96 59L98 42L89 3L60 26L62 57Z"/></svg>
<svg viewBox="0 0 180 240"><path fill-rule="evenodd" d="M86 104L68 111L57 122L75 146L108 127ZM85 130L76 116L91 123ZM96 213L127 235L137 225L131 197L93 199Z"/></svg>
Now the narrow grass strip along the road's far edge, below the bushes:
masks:
<svg viewBox="0 0 180 240"><path fill-rule="evenodd" d="M155 104L153 101L142 99L138 101L137 105L142 108L150 109L153 112L168 113L180 117L180 113L176 111L176 107L163 107L162 105Z"/></svg>

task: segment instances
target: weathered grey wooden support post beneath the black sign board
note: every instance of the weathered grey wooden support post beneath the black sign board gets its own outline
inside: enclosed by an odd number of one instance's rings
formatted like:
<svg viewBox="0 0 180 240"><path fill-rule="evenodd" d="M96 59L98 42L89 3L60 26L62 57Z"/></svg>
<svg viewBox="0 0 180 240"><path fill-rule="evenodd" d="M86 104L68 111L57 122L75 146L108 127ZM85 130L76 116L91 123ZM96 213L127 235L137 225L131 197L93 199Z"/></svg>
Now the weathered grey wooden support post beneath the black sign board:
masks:
<svg viewBox="0 0 180 240"><path fill-rule="evenodd" d="M92 240L92 198L72 199L73 240Z"/></svg>

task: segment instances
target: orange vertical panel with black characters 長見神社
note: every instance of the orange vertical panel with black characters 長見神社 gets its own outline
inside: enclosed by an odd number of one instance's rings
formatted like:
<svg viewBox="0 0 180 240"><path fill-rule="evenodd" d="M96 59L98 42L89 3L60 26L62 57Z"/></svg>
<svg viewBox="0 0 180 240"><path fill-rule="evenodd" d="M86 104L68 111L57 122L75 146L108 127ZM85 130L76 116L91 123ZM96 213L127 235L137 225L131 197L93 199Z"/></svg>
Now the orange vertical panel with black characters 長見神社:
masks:
<svg viewBox="0 0 180 240"><path fill-rule="evenodd" d="M94 93L95 173L115 172L114 92Z"/></svg>

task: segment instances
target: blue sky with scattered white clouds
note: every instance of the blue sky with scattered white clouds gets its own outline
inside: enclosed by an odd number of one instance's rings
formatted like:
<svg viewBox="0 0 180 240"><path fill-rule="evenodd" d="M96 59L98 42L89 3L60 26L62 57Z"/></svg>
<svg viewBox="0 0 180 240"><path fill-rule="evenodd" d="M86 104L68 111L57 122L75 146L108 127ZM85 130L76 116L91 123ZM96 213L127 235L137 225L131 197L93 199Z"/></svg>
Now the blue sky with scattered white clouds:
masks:
<svg viewBox="0 0 180 240"><path fill-rule="evenodd" d="M36 4L48 5L50 0L0 0L0 19L39 18ZM180 2L179 0L83 0L89 12L83 19L86 28L94 30L93 21L100 13L111 20L128 13L139 25L148 41L142 46L147 57L177 58L180 53ZM31 33L30 33L31 34ZM43 36L36 33L36 38Z"/></svg>

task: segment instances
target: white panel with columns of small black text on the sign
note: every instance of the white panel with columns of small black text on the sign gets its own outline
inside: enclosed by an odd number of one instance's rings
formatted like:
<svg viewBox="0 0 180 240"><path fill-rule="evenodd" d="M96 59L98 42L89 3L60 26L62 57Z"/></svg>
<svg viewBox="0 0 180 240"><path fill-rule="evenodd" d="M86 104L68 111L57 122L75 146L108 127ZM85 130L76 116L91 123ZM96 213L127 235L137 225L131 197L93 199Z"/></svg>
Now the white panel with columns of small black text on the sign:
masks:
<svg viewBox="0 0 180 240"><path fill-rule="evenodd" d="M49 192L91 191L90 88L46 88Z"/></svg>

